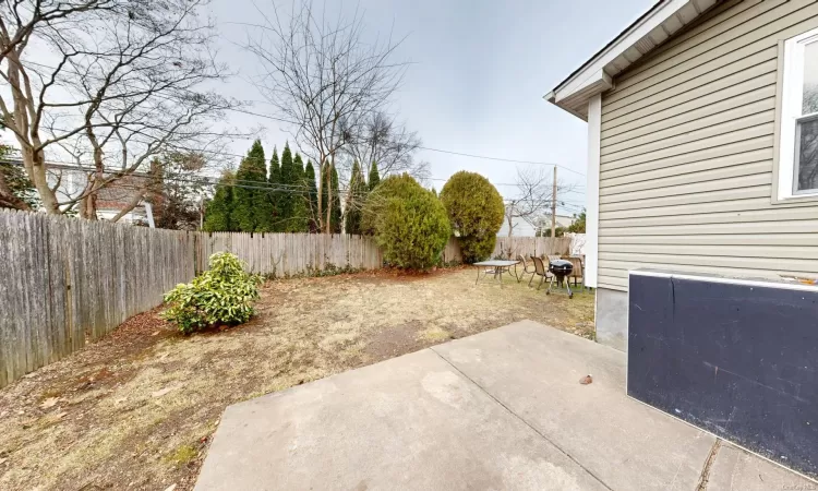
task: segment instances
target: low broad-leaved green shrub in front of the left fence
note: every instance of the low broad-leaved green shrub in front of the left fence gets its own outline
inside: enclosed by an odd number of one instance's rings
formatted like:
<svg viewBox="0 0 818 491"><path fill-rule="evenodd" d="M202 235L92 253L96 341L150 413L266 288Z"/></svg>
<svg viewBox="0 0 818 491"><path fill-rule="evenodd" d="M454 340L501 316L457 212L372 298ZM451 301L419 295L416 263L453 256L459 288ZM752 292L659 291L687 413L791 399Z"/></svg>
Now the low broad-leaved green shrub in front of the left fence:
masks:
<svg viewBox="0 0 818 491"><path fill-rule="evenodd" d="M215 325L242 324L253 315L261 276L244 272L244 264L229 252L210 255L210 268L165 295L163 318L190 334Z"/></svg>

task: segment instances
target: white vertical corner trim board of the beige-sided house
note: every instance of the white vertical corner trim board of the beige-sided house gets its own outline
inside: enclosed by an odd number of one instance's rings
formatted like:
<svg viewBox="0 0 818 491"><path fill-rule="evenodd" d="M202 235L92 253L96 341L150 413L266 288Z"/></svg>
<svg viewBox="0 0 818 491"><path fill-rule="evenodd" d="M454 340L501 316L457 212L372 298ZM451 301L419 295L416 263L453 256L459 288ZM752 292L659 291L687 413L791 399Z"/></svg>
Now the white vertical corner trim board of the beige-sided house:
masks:
<svg viewBox="0 0 818 491"><path fill-rule="evenodd" d="M588 169L586 170L586 286L597 288L599 270L599 165L602 94L588 100Z"/></svg>

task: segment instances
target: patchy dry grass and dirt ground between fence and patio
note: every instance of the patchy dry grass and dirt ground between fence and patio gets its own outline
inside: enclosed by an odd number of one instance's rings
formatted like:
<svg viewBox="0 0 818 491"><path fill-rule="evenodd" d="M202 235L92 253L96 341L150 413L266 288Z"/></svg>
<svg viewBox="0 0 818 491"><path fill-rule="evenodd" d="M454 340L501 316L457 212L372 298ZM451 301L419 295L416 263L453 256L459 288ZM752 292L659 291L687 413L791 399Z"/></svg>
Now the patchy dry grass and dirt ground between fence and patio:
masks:
<svg viewBox="0 0 818 491"><path fill-rule="evenodd" d="M0 489L191 489L225 407L531 319L593 336L593 294L474 270L289 279L242 326L190 337L157 311L0 390Z"/></svg>

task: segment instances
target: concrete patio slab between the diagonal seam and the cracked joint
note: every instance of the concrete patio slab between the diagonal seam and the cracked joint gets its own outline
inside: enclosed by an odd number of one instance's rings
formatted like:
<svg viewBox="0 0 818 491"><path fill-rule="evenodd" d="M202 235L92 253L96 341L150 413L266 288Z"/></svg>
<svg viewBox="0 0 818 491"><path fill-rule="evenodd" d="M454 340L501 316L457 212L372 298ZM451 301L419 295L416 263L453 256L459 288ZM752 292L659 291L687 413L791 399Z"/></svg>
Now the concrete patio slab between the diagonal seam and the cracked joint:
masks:
<svg viewBox="0 0 818 491"><path fill-rule="evenodd" d="M621 351L562 331L518 322L432 349L613 489L695 489L715 443L625 396Z"/></svg>

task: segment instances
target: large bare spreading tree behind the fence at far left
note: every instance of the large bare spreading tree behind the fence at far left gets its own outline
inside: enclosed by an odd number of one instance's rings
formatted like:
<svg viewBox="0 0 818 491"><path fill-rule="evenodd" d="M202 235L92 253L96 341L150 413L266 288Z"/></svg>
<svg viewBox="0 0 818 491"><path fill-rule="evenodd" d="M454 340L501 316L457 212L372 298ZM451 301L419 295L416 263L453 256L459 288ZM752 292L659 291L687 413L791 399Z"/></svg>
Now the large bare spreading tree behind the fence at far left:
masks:
<svg viewBox="0 0 818 491"><path fill-rule="evenodd" d="M206 152L236 106L200 87L226 77L210 51L207 0L19 0L0 4L0 117L48 213L96 218L100 189L168 152ZM86 172L60 199L48 158ZM147 180L146 180L147 181ZM148 193L135 190L133 208ZM0 192L2 190L0 189ZM123 209L115 219L128 213Z"/></svg>

